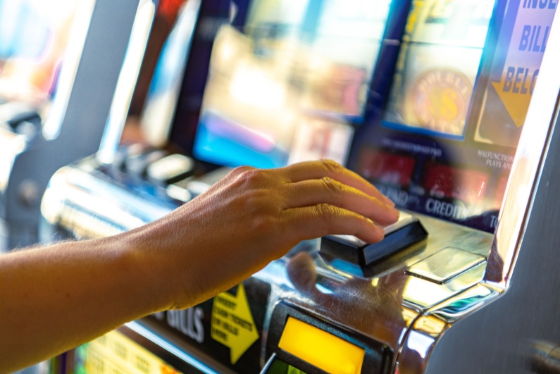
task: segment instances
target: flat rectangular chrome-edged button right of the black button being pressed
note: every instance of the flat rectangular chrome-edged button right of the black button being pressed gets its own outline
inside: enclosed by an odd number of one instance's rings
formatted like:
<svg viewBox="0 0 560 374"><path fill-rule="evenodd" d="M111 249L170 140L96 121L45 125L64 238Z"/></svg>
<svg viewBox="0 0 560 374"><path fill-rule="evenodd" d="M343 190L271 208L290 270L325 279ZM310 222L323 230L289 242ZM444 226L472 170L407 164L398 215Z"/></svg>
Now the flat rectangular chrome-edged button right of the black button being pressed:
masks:
<svg viewBox="0 0 560 374"><path fill-rule="evenodd" d="M446 247L413 264L406 273L443 285L485 260L480 254Z"/></svg>

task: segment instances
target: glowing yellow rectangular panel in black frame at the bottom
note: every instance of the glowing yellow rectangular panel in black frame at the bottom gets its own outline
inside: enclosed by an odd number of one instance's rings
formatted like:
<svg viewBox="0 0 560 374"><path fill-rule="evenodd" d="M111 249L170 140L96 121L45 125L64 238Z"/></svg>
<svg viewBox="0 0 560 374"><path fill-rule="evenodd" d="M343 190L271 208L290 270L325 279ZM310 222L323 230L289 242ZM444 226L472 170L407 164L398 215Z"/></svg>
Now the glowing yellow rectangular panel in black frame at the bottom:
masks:
<svg viewBox="0 0 560 374"><path fill-rule="evenodd" d="M332 374L361 373L366 355L365 349L292 317L278 347Z"/></svg>

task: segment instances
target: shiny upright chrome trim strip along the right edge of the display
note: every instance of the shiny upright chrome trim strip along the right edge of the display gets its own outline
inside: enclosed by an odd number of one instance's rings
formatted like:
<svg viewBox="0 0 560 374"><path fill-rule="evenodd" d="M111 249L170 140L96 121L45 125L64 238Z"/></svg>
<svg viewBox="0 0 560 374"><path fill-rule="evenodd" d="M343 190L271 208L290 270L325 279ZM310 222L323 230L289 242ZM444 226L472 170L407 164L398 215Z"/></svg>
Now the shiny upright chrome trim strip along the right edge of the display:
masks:
<svg viewBox="0 0 560 374"><path fill-rule="evenodd" d="M548 46L560 45L560 12L554 21ZM540 180L542 161L547 156L548 142L558 115L560 92L560 49L547 48L542 58L540 79L535 84L524 129L511 168L505 198L488 258L485 282L507 289L521 247L527 218L533 206L535 188ZM546 79L542 79L546 77Z"/></svg>

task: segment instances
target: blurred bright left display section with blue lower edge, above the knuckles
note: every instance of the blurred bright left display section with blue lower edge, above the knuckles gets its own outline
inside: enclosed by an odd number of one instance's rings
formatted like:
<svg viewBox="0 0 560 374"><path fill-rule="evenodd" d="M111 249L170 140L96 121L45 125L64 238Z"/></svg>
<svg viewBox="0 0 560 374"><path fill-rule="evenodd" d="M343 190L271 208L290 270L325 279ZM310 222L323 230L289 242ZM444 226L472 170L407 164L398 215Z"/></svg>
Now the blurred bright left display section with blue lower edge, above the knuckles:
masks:
<svg viewBox="0 0 560 374"><path fill-rule="evenodd" d="M390 0L256 0L213 45L194 156L222 166L345 163Z"/></svg>

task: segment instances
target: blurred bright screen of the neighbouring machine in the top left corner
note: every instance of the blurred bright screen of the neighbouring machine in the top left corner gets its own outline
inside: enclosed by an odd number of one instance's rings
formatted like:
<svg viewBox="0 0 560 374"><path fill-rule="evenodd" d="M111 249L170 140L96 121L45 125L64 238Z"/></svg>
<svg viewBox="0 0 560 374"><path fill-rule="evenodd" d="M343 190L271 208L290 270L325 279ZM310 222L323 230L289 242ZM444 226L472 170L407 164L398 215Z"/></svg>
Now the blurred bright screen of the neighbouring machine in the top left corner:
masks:
<svg viewBox="0 0 560 374"><path fill-rule="evenodd" d="M87 7L93 1L0 0L0 101L48 109L73 20Z"/></svg>

